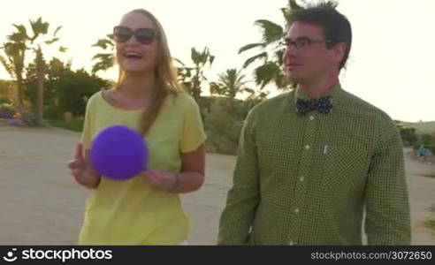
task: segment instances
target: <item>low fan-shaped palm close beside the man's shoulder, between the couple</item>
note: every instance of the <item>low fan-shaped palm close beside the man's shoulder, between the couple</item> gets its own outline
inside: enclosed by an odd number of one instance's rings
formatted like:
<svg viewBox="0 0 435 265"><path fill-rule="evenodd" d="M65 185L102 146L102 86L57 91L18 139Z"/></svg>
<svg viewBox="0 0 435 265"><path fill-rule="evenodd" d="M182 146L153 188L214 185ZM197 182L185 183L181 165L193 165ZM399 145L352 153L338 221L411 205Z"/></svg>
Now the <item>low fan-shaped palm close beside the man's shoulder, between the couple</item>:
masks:
<svg viewBox="0 0 435 265"><path fill-rule="evenodd" d="M210 82L210 93L215 95L225 95L230 98L244 91L250 91L245 81L245 75L235 68L227 69L217 76L217 82Z"/></svg>

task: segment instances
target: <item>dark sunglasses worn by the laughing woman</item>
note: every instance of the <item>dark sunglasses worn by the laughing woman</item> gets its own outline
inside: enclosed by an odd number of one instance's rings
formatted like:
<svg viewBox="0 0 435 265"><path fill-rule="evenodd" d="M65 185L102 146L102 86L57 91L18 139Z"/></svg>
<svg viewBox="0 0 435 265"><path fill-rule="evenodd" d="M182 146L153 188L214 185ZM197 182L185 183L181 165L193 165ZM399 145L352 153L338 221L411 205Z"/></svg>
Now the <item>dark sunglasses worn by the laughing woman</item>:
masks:
<svg viewBox="0 0 435 265"><path fill-rule="evenodd" d="M141 44L144 45L149 45L157 37L156 31L148 27L138 28L136 30L132 30L129 27L123 27L123 26L113 27L112 37L115 40L115 42L119 42L119 43L126 42L130 40L130 38L133 35L138 42L141 42Z"/></svg>

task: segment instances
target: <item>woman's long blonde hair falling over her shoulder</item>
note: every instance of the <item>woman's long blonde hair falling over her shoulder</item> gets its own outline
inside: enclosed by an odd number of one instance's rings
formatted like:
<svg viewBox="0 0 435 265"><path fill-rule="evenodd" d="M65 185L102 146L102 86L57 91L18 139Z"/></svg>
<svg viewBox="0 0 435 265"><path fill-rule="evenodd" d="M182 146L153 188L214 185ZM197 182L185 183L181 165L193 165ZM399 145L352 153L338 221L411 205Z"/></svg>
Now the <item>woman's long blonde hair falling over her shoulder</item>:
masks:
<svg viewBox="0 0 435 265"><path fill-rule="evenodd" d="M164 34L164 29L156 17L151 12L144 9L135 9L129 13L142 14L154 23L156 27L157 44L157 62L155 68L156 86L153 88L151 104L148 110L143 111L141 118L141 134L145 135L149 132L149 128L156 120L160 109L162 108L164 99L167 95L178 95L183 89L179 86L177 80L177 72L172 64L171 51L169 50L168 41ZM118 84L116 89L120 87L126 79L126 73L119 68Z"/></svg>

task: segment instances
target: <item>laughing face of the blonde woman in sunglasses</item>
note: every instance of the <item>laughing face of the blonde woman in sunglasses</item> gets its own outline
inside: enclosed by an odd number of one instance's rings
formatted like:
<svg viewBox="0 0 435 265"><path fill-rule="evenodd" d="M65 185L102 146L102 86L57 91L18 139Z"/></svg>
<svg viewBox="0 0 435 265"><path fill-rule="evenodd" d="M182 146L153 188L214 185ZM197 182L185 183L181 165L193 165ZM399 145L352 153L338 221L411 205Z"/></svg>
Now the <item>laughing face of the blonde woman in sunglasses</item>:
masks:
<svg viewBox="0 0 435 265"><path fill-rule="evenodd" d="M113 34L121 70L127 73L154 71L158 40L151 19L141 13L127 13Z"/></svg>

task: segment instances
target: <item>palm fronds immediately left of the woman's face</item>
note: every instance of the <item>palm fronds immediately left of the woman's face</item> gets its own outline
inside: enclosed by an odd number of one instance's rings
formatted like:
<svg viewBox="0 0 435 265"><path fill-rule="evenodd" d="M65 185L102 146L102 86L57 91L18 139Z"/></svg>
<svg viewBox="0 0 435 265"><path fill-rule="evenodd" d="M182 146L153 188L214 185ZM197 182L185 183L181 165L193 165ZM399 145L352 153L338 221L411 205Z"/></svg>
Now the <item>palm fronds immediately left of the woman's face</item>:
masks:
<svg viewBox="0 0 435 265"><path fill-rule="evenodd" d="M103 53L97 53L94 57L92 57L92 60L96 60L96 63L92 66L93 74L99 71L106 71L113 67L115 62L115 43L113 42L110 34L103 39L99 39L94 45L92 45L92 47L97 47L104 50Z"/></svg>

